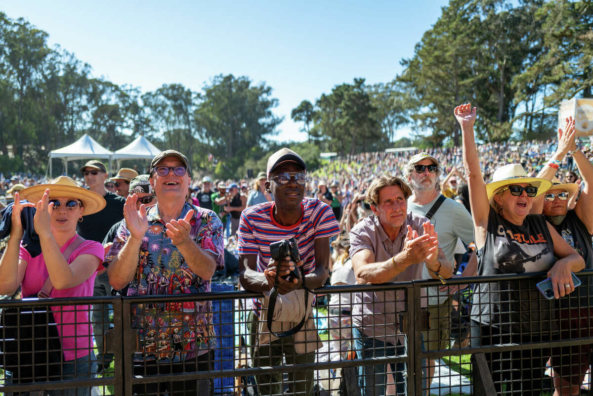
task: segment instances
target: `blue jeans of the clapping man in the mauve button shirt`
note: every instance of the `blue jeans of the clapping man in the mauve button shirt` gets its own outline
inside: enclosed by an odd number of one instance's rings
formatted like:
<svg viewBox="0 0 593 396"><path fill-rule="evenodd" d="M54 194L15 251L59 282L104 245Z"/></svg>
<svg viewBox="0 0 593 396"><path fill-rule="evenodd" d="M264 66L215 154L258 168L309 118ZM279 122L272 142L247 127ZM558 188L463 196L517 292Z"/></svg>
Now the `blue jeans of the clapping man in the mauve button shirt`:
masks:
<svg viewBox="0 0 593 396"><path fill-rule="evenodd" d="M403 355L403 345L394 346L372 337L362 334L359 328L352 328L356 357L358 359L369 359L372 357L391 357ZM396 379L396 394L407 395L406 363L396 363L395 368L390 364L391 371ZM425 359L422 359L422 372L426 368ZM358 385L361 387L362 396L384 396L385 383L387 382L387 365L361 366L358 368Z"/></svg>

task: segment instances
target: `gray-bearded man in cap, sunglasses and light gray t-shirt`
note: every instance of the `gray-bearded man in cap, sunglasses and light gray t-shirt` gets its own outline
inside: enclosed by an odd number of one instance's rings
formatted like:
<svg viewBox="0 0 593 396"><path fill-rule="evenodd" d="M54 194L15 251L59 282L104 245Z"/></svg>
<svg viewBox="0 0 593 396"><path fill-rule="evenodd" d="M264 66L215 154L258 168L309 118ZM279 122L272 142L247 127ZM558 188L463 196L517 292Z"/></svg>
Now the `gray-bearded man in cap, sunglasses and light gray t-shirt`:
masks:
<svg viewBox="0 0 593 396"><path fill-rule="evenodd" d="M427 152L420 152L410 158L405 169L406 179L413 191L408 200L408 210L431 220L447 260L455 263L457 238L466 245L474 241L473 222L470 213L461 203L441 195L438 183L441 173L439 161ZM461 276L474 276L476 269L477 261L470 260ZM422 278L431 279L425 269ZM458 289L457 286L428 288L428 311L431 319L429 331L423 332L426 350L442 350L449 346L452 308L450 295ZM429 384L434 372L435 361L431 359L428 369Z"/></svg>

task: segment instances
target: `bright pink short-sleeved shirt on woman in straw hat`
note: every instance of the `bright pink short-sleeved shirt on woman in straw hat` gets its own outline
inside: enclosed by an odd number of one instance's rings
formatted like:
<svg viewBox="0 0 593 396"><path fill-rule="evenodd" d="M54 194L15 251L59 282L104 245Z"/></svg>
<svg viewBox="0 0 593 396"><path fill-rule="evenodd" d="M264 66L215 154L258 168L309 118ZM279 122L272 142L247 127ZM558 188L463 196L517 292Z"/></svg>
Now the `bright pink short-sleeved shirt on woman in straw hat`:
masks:
<svg viewBox="0 0 593 396"><path fill-rule="evenodd" d="M66 250L74 239L73 237L65 245L60 248L60 251ZM103 245L95 241L84 241L76 248L68 258L68 264L72 263L76 257L81 254L92 254L103 261L105 251ZM49 273L43 260L43 253L37 257L31 257L27 250L21 246L19 253L21 260L27 261L27 270L21 283L21 291L23 296L28 297L37 295L39 290L43 287ZM103 266L99 265L97 271ZM95 285L95 271L87 280L78 286L69 289L53 289L49 296L51 298L63 297L86 297L93 295ZM64 360L74 360L79 357L88 356L93 347L93 327L89 320L90 305L64 305L52 306L53 317L58 324L58 334L62 338L62 350L64 353Z"/></svg>

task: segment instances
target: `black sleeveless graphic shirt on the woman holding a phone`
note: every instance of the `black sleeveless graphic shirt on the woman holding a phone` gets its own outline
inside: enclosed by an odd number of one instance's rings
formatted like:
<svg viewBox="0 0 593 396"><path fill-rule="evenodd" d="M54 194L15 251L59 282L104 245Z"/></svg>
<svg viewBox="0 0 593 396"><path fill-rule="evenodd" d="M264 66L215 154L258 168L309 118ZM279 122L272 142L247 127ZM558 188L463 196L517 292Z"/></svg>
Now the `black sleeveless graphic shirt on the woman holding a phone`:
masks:
<svg viewBox="0 0 593 396"><path fill-rule="evenodd" d="M546 272L554 265L554 245L543 215L528 215L522 225L506 221L490 207L486 243L477 252L479 276ZM542 279L543 280L543 279ZM471 318L503 331L555 330L553 310L533 280L480 283L474 290Z"/></svg>

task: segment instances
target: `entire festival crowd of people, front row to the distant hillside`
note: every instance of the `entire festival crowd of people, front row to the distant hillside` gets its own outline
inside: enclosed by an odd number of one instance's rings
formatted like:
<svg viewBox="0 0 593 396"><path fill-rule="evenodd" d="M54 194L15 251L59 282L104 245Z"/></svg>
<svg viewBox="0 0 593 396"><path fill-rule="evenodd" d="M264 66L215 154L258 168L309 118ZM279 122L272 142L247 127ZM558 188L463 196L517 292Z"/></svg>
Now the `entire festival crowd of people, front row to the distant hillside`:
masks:
<svg viewBox="0 0 593 396"><path fill-rule="evenodd" d="M442 286L422 296L429 312L422 341L426 350L442 350L449 345L454 295L464 288L447 285L447 279L547 272L551 299L534 280L479 283L471 307L472 346L593 336L593 290L577 289L571 274L593 269L588 215L593 151L579 145L572 119L554 142L477 146L476 108L458 106L454 115L462 147L365 153L312 172L298 153L284 148L253 180L193 178L188 159L174 150L152 159L147 174L121 168L109 177L102 162L91 160L74 178L2 175L0 293L20 288L23 296L42 290L49 297L103 296L112 290L126 296L178 295L179 301L133 306L138 330L133 372L139 376L212 367L211 303L187 295L209 292L217 273L236 274L243 289L264 294L248 308L247 341L255 366L315 361L310 290L327 282L440 280ZM31 234L38 235L37 247L21 241ZM475 254L460 267L455 255L469 246ZM575 290L578 308L561 299ZM113 355L102 337L109 309L94 306L91 317L88 306L77 306L86 317L59 307L53 311L64 340L64 379L109 367ZM360 359L396 355L404 347L398 331L402 311L401 290L331 295L333 350L339 359L349 350ZM88 322L92 331L81 324ZM591 365L591 346L491 352L486 360L499 393L503 383L507 394L550 391L543 385L549 360L555 395L572 395ZM435 363L422 366L428 389ZM406 394L405 370L403 364L361 366L362 395L387 394L390 372L398 384L395 393ZM288 392L310 394L313 379L311 370L289 373ZM257 375L256 381L260 395L284 391L280 373ZM199 386L168 381L156 389L134 385L133 392L189 395ZM71 391L89 394L88 388Z"/></svg>

